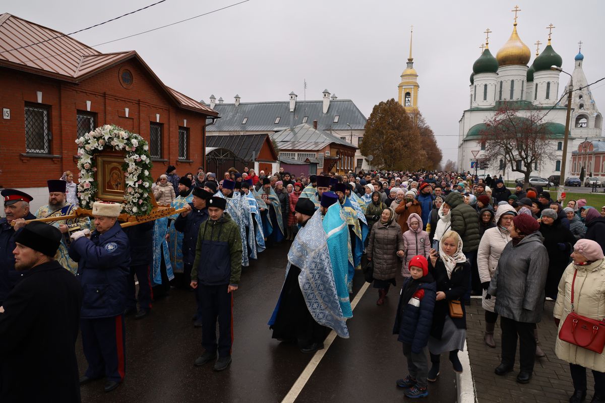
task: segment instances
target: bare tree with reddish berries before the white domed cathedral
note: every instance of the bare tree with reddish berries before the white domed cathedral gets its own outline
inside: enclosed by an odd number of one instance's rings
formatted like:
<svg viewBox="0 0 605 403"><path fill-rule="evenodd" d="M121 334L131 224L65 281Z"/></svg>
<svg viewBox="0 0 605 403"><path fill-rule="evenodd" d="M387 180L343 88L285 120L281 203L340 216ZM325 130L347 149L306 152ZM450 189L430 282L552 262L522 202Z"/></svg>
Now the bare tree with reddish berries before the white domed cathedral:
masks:
<svg viewBox="0 0 605 403"><path fill-rule="evenodd" d="M519 109L503 103L491 118L486 118L486 127L480 132L478 143L485 144L483 160L503 158L511 171L523 173L528 187L534 167L554 159L555 147L543 114L531 106Z"/></svg>

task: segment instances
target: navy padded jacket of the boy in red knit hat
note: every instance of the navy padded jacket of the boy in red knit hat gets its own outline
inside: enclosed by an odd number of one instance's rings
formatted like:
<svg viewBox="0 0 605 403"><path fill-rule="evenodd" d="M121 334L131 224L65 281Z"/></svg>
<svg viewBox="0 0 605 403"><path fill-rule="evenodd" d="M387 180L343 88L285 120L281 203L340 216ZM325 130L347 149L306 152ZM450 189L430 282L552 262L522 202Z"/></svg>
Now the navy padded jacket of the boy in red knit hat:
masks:
<svg viewBox="0 0 605 403"><path fill-rule="evenodd" d="M432 278L430 279L432 280ZM405 279L402 290L412 281L411 277ZM409 301L403 301L402 294L399 294L399 305L397 305L393 334L399 335L397 340L402 343L411 344L414 353L419 353L427 346L431 324L433 323L436 292L436 283L427 282L419 285Z"/></svg>

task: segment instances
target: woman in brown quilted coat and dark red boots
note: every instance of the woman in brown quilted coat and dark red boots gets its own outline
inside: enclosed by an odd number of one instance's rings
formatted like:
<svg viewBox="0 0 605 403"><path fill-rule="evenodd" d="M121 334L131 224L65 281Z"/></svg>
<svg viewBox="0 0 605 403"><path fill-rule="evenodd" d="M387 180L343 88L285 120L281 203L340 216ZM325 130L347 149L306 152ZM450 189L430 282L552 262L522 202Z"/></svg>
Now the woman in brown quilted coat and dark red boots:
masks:
<svg viewBox="0 0 605 403"><path fill-rule="evenodd" d="M391 284L396 285L395 276L401 266L400 258L404 256L404 236L394 218L392 208L382 210L379 221L371 229L365 250L368 261L374 263L374 288L378 288L376 305L384 304Z"/></svg>

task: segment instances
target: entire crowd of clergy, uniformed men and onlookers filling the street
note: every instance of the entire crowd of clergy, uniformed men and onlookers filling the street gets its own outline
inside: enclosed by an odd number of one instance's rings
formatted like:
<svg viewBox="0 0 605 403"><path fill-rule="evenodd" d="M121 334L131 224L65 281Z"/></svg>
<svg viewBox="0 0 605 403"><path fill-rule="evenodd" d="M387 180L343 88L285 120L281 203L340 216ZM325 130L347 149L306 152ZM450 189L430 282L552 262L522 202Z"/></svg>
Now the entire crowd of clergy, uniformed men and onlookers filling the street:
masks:
<svg viewBox="0 0 605 403"><path fill-rule="evenodd" d="M302 352L324 348L330 329L347 338L355 269L371 271L378 306L402 278L393 332L409 370L397 385L409 398L428 396L443 353L455 372L463 371L458 353L465 346L471 295L482 298L484 340L492 348L500 317L502 353L495 373L513 369L518 342L522 384L531 381L535 358L544 356L536 323L545 298L556 300L559 326L574 309L598 320L605 316L605 207L598 211L583 199L563 206L540 187L511 190L495 176L362 171L307 178L283 169L257 175L248 167L221 175L200 167L178 176L169 166L152 193L158 204L177 211L128 228L117 221L117 203L95 202L92 220L74 218L74 187L71 172L48 181L48 204L35 215L30 195L2 190L0 396L7 401L23 390L33 400L53 390L65 401L79 401L79 385L98 378L106 379L105 392L117 388L125 376L124 317L145 318L152 301L171 286L195 295L192 320L202 328L203 346L195 366L213 362L215 370L227 369L241 269L284 240L292 243L269 319L272 337L296 343ZM56 220L30 221L41 218ZM36 291L43 282L65 277L57 274L61 267L79 282L69 280L44 295L70 312L60 330L47 324L67 340L63 350L53 351L64 354L64 370L57 372L50 363L39 365L31 353L44 346L10 335L36 320L39 312L27 311L24 303L41 298ZM50 306L37 308L56 316ZM74 353L78 330L88 362L83 376ZM570 364L575 387L570 401L586 398L589 368L595 377L592 401L605 402L605 355L562 340L555 351ZM35 390L24 386L23 374L31 366L52 373Z"/></svg>

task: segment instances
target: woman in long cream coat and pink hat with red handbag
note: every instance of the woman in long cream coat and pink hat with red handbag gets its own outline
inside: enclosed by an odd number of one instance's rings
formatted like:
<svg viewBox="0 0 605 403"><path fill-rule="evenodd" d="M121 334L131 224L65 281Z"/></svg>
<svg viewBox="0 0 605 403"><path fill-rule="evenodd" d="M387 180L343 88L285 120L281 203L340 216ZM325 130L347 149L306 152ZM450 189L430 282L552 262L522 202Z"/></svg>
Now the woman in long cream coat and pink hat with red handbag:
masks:
<svg viewBox="0 0 605 403"><path fill-rule="evenodd" d="M574 312L588 318L602 320L605 317L605 259L597 242L580 239L571 254L573 262L567 266L559 282L557 303L553 315L559 331L571 312L571 287L574 281ZM595 378L594 403L605 402L605 351L601 354L575 346L557 338L557 357L569 363L574 395L569 401L580 403L586 398L586 369Z"/></svg>

